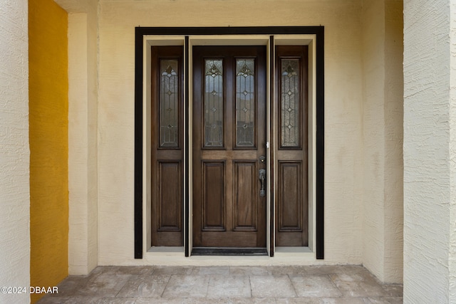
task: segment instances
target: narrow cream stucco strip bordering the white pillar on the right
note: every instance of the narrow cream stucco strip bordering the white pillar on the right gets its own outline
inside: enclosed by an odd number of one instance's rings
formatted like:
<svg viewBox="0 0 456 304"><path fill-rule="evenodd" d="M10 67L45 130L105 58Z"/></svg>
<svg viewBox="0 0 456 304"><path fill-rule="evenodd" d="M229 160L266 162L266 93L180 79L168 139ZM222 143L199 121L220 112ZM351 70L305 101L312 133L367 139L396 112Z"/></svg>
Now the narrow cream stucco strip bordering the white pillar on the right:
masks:
<svg viewBox="0 0 456 304"><path fill-rule="evenodd" d="M403 1L385 1L384 282L403 280ZM365 232L366 233L366 232Z"/></svg>

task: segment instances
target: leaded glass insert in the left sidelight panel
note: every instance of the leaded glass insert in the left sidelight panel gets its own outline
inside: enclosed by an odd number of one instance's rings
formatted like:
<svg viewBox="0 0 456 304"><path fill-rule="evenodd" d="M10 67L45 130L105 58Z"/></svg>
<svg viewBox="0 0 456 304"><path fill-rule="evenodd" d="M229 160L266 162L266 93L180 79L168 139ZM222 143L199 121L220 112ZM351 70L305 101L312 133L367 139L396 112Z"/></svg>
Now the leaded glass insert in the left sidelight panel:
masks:
<svg viewBox="0 0 456 304"><path fill-rule="evenodd" d="M179 61L160 59L160 147L179 147Z"/></svg>

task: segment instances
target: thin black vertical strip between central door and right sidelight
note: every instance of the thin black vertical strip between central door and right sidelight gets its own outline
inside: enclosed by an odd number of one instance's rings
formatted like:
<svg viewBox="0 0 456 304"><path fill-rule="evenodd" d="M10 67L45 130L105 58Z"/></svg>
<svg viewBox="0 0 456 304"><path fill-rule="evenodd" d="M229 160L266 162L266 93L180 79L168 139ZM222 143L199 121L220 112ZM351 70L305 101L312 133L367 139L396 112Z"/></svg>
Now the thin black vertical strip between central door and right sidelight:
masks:
<svg viewBox="0 0 456 304"><path fill-rule="evenodd" d="M269 159L269 168L270 168L270 178L271 178L271 192L269 192L269 196L271 197L270 202L270 216L271 220L269 222L270 227L269 227L269 234L270 234L270 240L269 240L269 256L274 257L274 249L275 249L275 242L274 242L274 232L275 232L275 214L274 214L274 197L275 197L275 192L274 192L274 184L275 184L275 179L274 179L274 132L271 132L271 129L274 129L274 117L272 115L274 114L274 103L275 103L275 98L274 98L274 73L271 73L271 71L275 70L274 67L274 36L269 36L269 135L270 138L269 140L269 150L271 159Z"/></svg>

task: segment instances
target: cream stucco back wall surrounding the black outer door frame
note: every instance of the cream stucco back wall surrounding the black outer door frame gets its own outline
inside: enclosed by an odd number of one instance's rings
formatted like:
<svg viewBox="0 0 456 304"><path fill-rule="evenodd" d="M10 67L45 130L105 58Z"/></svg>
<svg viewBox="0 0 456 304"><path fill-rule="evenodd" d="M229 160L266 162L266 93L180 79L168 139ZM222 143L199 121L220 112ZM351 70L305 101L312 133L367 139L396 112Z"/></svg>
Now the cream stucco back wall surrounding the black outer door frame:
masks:
<svg viewBox="0 0 456 304"><path fill-rule="evenodd" d="M134 4L134 5L133 5ZM210 6L210 8L208 7ZM246 18L242 11L255 11ZM207 14L223 11L224 14ZM361 264L361 1L100 1L99 263L133 259L135 26L325 26L326 263ZM187 260L187 263L192 261Z"/></svg>

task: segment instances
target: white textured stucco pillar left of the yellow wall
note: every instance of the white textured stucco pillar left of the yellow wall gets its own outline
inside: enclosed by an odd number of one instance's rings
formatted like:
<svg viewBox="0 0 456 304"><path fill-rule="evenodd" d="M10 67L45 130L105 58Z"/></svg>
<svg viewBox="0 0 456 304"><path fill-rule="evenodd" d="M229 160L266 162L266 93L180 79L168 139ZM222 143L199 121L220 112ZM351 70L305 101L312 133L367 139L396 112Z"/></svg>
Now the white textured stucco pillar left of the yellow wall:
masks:
<svg viewBox="0 0 456 304"><path fill-rule="evenodd" d="M30 285L27 1L0 9L0 286ZM0 303L29 303L0 293Z"/></svg>

